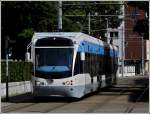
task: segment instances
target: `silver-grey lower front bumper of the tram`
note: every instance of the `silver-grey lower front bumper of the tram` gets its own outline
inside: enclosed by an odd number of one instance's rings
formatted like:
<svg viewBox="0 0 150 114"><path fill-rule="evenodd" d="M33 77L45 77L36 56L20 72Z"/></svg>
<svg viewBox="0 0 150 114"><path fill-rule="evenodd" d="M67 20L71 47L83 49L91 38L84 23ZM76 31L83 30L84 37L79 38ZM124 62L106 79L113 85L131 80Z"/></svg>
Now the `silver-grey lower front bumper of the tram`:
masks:
<svg viewBox="0 0 150 114"><path fill-rule="evenodd" d="M34 86L33 95L81 98L84 95L84 86Z"/></svg>

